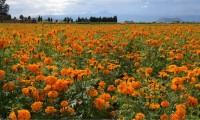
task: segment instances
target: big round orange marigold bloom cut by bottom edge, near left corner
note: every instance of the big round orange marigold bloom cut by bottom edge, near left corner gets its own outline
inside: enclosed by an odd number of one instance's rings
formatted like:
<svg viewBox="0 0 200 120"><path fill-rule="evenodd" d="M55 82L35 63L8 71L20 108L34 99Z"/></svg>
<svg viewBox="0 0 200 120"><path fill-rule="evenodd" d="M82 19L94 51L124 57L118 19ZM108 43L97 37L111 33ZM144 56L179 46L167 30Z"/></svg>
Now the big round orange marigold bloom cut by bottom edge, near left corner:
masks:
<svg viewBox="0 0 200 120"><path fill-rule="evenodd" d="M18 120L30 120L31 119L31 114L28 110L22 109L18 110Z"/></svg>

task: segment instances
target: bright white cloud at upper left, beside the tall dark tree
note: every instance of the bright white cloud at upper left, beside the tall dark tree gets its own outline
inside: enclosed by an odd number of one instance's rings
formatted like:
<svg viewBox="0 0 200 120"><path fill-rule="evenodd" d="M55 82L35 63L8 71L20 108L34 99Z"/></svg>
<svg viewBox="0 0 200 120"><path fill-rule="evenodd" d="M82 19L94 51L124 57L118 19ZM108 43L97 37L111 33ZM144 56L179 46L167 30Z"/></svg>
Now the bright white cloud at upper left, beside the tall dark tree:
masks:
<svg viewBox="0 0 200 120"><path fill-rule="evenodd" d="M9 0L10 13L14 15L60 15L68 11L68 6L79 0Z"/></svg>

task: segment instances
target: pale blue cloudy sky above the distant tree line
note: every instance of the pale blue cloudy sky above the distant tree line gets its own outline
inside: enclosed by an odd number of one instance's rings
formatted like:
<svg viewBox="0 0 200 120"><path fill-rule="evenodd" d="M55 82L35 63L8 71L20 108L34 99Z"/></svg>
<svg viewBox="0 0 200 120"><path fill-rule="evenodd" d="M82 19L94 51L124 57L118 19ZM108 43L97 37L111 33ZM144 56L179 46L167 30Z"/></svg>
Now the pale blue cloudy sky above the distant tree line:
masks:
<svg viewBox="0 0 200 120"><path fill-rule="evenodd" d="M200 0L7 0L12 16L114 16L120 20L200 16ZM199 17L200 18L200 17Z"/></svg>

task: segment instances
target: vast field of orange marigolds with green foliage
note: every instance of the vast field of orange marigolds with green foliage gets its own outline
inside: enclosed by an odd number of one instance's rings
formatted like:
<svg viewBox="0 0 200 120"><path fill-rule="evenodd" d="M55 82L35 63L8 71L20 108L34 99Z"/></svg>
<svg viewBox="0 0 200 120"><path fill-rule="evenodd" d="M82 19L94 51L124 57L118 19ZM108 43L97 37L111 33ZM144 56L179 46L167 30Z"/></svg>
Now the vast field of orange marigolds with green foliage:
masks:
<svg viewBox="0 0 200 120"><path fill-rule="evenodd" d="M0 119L200 118L199 24L0 24Z"/></svg>

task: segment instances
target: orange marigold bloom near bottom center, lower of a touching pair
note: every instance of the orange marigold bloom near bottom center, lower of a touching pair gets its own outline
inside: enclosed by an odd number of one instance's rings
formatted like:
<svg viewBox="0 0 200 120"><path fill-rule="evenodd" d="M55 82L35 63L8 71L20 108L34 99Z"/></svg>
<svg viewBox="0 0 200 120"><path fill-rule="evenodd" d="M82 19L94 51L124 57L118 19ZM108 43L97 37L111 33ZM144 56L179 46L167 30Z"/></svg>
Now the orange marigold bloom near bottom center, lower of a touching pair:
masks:
<svg viewBox="0 0 200 120"><path fill-rule="evenodd" d="M109 107L109 102L101 98L96 98L93 103L98 110L107 109Z"/></svg>

